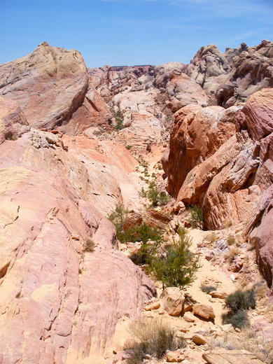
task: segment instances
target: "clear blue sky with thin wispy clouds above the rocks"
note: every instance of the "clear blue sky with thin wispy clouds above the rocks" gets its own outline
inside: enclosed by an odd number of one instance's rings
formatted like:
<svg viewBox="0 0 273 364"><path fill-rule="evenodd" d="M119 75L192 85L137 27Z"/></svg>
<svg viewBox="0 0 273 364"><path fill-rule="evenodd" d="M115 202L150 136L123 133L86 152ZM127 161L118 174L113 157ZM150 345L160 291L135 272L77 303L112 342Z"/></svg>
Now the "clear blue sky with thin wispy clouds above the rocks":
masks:
<svg viewBox="0 0 273 364"><path fill-rule="evenodd" d="M189 63L214 43L273 40L273 0L0 0L0 63L42 41L76 49L88 67Z"/></svg>

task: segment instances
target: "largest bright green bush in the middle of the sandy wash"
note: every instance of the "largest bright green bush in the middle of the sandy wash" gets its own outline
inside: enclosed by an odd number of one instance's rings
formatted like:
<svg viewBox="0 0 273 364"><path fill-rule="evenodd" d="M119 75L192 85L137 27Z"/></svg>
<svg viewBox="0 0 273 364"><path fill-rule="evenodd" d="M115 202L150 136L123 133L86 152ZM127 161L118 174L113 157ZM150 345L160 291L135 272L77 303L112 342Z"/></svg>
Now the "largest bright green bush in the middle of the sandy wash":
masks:
<svg viewBox="0 0 273 364"><path fill-rule="evenodd" d="M173 241L166 252L155 255L151 273L162 281L163 289L183 287L192 283L199 267L199 259L190 250L191 240L186 230L179 228L179 241Z"/></svg>

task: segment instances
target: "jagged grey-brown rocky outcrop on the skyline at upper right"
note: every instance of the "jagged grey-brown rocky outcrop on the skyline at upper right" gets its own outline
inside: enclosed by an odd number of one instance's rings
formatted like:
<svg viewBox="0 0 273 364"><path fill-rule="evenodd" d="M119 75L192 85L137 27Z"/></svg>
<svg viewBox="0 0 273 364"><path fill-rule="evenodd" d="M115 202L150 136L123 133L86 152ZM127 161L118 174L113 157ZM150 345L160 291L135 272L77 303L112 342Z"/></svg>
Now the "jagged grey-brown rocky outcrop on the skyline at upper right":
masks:
<svg viewBox="0 0 273 364"><path fill-rule="evenodd" d="M273 85L273 44L262 41L260 45L227 48L221 53L216 45L207 45L197 51L183 72L202 85L217 99L217 104L230 107L251 96L263 87Z"/></svg>

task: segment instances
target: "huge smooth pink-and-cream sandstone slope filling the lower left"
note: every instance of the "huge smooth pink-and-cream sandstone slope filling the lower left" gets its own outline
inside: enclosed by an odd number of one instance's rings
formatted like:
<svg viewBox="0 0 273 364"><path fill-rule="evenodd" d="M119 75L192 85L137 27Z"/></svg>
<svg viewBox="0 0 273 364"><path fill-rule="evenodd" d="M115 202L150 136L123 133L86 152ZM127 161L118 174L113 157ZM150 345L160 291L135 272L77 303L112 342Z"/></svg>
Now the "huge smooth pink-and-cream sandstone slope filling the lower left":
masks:
<svg viewBox="0 0 273 364"><path fill-rule="evenodd" d="M87 202L87 169L59 135L5 140L0 161L0 363L76 362L155 288L116 250L113 225Z"/></svg>

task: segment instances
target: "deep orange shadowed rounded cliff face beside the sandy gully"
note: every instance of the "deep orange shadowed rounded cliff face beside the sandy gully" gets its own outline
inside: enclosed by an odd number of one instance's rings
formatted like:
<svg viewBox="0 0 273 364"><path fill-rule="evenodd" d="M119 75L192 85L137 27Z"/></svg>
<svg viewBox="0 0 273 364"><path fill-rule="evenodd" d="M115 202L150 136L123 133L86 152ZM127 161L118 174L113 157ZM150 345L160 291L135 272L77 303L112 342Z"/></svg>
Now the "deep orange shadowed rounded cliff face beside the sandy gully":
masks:
<svg viewBox="0 0 273 364"><path fill-rule="evenodd" d="M178 196L188 173L235 134L234 118L238 112L238 108L225 111L219 106L202 109L188 105L175 114L169 148L162 158L169 193Z"/></svg>

